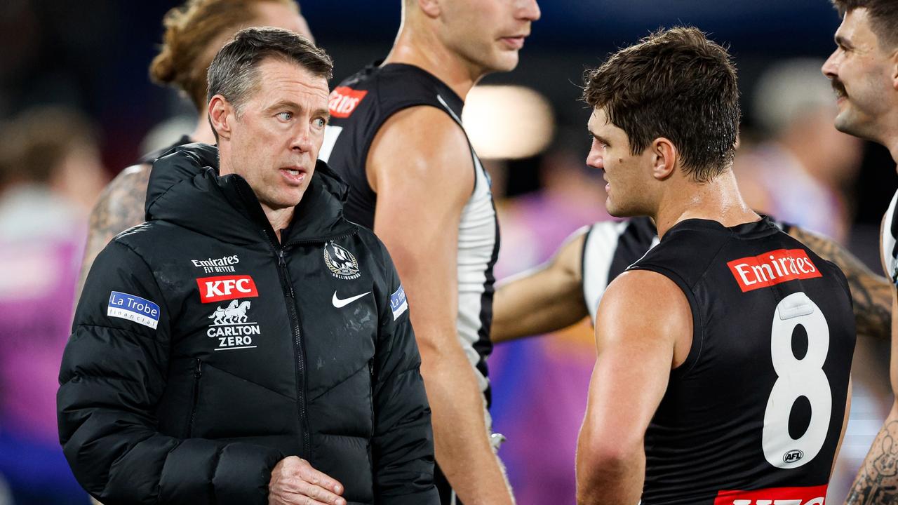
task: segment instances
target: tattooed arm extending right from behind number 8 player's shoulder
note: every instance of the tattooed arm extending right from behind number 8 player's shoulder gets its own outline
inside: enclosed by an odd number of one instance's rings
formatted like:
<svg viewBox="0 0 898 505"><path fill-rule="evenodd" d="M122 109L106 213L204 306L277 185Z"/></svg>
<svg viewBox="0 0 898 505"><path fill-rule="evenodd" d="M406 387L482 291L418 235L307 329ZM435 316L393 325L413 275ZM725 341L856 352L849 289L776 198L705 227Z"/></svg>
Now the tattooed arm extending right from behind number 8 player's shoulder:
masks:
<svg viewBox="0 0 898 505"><path fill-rule="evenodd" d="M892 285L888 279L876 275L856 256L831 238L793 226L789 235L810 247L814 253L832 261L848 279L854 300L854 318L858 335L883 339L892 338ZM898 503L898 501L896 501Z"/></svg>

